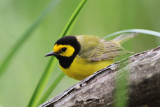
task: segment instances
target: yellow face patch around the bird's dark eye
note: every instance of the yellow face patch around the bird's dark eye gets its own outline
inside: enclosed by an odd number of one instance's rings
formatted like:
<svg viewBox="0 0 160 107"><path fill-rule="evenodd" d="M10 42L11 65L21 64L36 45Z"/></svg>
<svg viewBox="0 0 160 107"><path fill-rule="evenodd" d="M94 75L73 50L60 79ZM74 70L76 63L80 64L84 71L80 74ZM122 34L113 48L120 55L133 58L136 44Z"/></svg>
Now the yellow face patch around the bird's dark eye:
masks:
<svg viewBox="0 0 160 107"><path fill-rule="evenodd" d="M60 56L71 57L75 49L71 45L61 45L55 44L53 47L53 52L58 53Z"/></svg>

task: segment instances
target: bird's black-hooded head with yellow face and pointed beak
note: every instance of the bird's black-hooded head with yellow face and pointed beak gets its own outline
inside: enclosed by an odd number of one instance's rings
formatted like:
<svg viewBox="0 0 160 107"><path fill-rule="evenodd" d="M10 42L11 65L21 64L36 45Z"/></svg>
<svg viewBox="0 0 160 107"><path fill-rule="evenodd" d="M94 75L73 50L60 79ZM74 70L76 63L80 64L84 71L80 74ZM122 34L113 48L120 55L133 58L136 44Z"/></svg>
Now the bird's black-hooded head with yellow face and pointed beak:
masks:
<svg viewBox="0 0 160 107"><path fill-rule="evenodd" d="M46 56L55 56L59 60L61 66L64 66L63 63L66 61L71 64L79 51L80 44L77 38L75 36L65 36L54 44L53 51Z"/></svg>

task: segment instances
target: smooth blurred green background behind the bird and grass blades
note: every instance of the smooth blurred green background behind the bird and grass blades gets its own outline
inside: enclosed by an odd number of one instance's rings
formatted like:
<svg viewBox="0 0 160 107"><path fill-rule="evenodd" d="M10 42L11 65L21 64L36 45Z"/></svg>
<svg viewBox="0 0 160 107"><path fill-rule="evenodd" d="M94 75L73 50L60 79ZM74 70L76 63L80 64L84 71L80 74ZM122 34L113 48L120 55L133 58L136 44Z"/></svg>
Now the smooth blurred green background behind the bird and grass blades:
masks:
<svg viewBox="0 0 160 107"><path fill-rule="evenodd" d="M50 52L68 19L81 0L60 0L14 55L0 77L0 105L26 107L49 61ZM0 0L0 64L51 0ZM160 31L159 0L88 0L71 35L105 35L126 29ZM135 53L154 48L160 39L140 34L123 46ZM58 63L50 80L62 72ZM55 75L56 74L56 75ZM48 99L78 81L64 77ZM47 87L46 87L47 89Z"/></svg>

